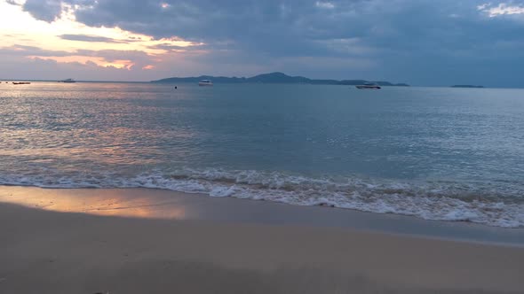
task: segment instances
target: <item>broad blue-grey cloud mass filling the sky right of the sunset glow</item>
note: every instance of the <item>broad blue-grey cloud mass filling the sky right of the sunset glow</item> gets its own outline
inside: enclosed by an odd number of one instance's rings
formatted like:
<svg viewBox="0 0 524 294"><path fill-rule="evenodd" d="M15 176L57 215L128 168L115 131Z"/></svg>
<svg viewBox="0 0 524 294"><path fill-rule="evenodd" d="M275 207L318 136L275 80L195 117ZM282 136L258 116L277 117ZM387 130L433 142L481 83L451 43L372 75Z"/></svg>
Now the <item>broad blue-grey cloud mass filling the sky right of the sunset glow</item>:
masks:
<svg viewBox="0 0 524 294"><path fill-rule="evenodd" d="M176 35L206 43L202 48L211 51L226 50L219 55L230 52L232 60L235 55L249 55L260 64L282 58L361 58L379 65L377 78L524 86L515 78L524 75L524 14L490 17L487 11L498 4L524 7L521 0L62 2L78 4L75 17L88 26L116 26L157 39ZM24 5L47 21L60 15L57 7L60 1ZM319 70L329 73L327 67ZM347 77L338 69L331 73L339 75L326 77Z"/></svg>

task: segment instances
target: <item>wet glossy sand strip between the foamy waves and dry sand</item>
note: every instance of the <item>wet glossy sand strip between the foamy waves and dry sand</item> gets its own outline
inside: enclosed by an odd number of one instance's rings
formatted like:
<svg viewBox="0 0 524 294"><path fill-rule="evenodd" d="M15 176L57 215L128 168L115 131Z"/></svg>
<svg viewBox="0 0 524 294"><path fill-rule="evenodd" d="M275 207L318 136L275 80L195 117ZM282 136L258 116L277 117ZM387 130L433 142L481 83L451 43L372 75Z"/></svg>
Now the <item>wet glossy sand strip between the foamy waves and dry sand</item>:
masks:
<svg viewBox="0 0 524 294"><path fill-rule="evenodd" d="M427 221L393 213L366 213L329 206L289 205L235 197L210 197L171 190L47 189L0 185L1 203L60 213L349 228L396 236L524 247L524 228L490 227L464 221Z"/></svg>

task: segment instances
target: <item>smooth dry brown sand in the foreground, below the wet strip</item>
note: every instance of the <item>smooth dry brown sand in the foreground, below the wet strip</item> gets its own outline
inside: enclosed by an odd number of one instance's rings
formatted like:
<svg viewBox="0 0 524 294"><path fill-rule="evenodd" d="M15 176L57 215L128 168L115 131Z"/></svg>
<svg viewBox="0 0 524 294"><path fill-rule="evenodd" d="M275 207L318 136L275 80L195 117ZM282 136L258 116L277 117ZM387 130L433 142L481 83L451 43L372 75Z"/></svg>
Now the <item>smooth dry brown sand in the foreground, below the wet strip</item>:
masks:
<svg viewBox="0 0 524 294"><path fill-rule="evenodd" d="M2 293L521 293L524 249L0 205Z"/></svg>

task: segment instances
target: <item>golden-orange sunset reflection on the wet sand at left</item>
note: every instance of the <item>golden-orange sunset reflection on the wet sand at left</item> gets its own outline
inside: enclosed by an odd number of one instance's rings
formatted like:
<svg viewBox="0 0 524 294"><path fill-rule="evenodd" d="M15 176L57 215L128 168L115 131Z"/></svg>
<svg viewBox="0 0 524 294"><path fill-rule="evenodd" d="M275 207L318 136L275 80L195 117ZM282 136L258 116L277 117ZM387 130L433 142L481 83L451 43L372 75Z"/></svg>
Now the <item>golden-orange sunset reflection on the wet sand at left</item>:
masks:
<svg viewBox="0 0 524 294"><path fill-rule="evenodd" d="M90 213L106 216L185 219L187 208L172 197L148 197L145 190L105 189L56 190L0 186L0 202L61 213Z"/></svg>

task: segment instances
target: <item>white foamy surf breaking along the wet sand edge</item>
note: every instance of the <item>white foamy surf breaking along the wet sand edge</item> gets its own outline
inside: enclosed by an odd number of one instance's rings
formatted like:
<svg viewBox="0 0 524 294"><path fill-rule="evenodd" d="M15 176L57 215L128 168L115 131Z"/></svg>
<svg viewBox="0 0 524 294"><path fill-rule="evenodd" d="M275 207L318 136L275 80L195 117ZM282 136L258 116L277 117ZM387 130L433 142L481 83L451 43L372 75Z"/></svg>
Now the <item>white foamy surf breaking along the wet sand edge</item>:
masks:
<svg viewBox="0 0 524 294"><path fill-rule="evenodd" d="M433 221L472 221L503 228L524 227L522 190L461 182L309 178L299 175L220 169L155 171L129 178L116 174L4 176L0 184L43 188L152 188L211 197L268 200L290 205L329 205L370 213L397 213ZM508 194L511 191L512 194Z"/></svg>

